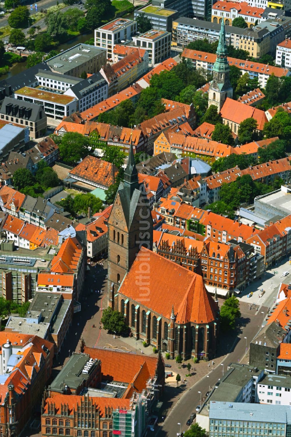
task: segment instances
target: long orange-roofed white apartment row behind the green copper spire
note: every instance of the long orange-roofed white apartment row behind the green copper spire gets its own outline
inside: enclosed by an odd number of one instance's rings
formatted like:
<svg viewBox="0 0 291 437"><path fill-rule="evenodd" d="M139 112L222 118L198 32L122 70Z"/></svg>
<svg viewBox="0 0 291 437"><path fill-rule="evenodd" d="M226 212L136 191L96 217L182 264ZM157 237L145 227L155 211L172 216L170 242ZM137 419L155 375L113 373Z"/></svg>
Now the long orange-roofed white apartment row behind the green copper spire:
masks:
<svg viewBox="0 0 291 437"><path fill-rule="evenodd" d="M215 54L184 49L182 56L186 59L191 59L194 68L204 70L205 74L212 73L212 68L216 60ZM250 62L230 57L228 57L227 60L230 66L236 66L243 74L248 73L250 79L258 79L259 85L262 88L266 87L267 80L272 74L276 77L288 77L291 74L288 68L273 67L260 62Z"/></svg>

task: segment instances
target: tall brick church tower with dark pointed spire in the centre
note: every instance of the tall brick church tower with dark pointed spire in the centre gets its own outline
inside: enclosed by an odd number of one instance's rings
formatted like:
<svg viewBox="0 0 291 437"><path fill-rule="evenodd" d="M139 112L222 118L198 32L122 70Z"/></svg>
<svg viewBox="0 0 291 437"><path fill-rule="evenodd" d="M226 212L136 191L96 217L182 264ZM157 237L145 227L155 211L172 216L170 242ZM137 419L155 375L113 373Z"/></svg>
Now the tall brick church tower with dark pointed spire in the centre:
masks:
<svg viewBox="0 0 291 437"><path fill-rule="evenodd" d="M152 250L152 214L144 185L139 186L132 143L124 182L108 218L108 306L142 246Z"/></svg>

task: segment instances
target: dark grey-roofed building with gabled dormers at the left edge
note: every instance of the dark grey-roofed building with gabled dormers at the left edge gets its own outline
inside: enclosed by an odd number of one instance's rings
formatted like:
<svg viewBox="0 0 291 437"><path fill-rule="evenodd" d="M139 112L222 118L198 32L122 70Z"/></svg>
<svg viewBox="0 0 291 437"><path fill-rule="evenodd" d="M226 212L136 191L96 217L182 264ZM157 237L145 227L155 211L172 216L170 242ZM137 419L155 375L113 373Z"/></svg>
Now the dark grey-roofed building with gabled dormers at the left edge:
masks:
<svg viewBox="0 0 291 437"><path fill-rule="evenodd" d="M42 107L24 101L22 104L17 99L5 97L0 108L1 121L11 121L18 125L29 127L31 139L37 139L46 132L47 121Z"/></svg>

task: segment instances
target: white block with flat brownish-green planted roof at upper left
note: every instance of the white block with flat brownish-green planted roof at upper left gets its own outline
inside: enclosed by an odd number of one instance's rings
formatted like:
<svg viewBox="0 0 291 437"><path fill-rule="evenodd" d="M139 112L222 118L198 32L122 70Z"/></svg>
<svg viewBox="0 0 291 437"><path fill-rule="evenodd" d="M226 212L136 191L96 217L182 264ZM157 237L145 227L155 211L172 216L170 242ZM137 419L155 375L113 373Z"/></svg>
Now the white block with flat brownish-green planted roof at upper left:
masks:
<svg viewBox="0 0 291 437"><path fill-rule="evenodd" d="M19 101L28 101L41 105L45 115L55 120L62 120L77 110L76 97L42 91L39 88L20 88L15 91L14 96L19 104Z"/></svg>

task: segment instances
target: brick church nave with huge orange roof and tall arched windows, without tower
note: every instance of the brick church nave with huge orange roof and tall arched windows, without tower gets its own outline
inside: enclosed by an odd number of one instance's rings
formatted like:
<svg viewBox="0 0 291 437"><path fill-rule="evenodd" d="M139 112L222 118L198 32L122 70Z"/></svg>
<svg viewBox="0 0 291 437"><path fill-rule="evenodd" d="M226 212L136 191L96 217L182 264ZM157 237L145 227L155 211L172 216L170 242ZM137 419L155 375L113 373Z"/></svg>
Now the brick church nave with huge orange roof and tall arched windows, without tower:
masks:
<svg viewBox="0 0 291 437"><path fill-rule="evenodd" d="M174 358L215 356L218 305L200 275L141 248L115 296L137 340Z"/></svg>

